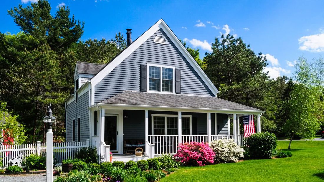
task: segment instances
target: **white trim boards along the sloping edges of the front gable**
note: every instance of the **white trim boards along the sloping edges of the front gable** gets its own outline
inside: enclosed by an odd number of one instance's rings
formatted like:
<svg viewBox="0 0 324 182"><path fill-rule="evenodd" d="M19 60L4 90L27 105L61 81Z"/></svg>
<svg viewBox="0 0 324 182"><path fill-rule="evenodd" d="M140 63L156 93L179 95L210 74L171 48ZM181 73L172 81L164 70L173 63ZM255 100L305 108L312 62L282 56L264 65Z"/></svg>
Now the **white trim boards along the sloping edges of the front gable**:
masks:
<svg viewBox="0 0 324 182"><path fill-rule="evenodd" d="M118 66L123 60L125 60L133 51L135 51L139 46L141 46L148 38L150 38L160 28L162 28L162 30L167 34L169 39L175 44L175 46L178 48L181 54L186 58L186 60L190 63L193 69L202 78L204 83L212 91L214 96L217 96L218 90L215 87L215 85L203 72L203 70L198 65L198 63L192 58L188 50L184 47L184 45L180 42L180 40L172 32L172 30L168 27L168 25L163 21L163 19L157 21L151 28L146 30L139 38L133 41L131 45L129 45L125 50L123 50L114 59L112 59L109 63L107 63L107 65L104 66L101 69L101 71L98 72L98 74L92 77L91 89L94 90L95 85L97 85L107 74L109 74L116 66ZM91 94L91 105L94 104L94 99L95 99L94 94Z"/></svg>

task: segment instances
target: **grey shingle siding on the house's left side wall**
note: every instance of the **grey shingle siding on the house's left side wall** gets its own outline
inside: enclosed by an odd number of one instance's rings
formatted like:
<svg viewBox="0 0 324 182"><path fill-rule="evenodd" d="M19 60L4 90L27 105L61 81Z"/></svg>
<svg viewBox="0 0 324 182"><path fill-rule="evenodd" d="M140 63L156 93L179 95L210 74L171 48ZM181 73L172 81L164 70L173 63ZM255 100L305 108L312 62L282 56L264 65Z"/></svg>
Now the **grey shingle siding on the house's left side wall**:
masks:
<svg viewBox="0 0 324 182"><path fill-rule="evenodd" d="M78 139L78 122L80 117L80 141L90 139L89 137L89 93L86 92L82 96L79 96L78 101L73 101L67 105L66 116L66 142L73 141L73 119L75 119L75 141Z"/></svg>

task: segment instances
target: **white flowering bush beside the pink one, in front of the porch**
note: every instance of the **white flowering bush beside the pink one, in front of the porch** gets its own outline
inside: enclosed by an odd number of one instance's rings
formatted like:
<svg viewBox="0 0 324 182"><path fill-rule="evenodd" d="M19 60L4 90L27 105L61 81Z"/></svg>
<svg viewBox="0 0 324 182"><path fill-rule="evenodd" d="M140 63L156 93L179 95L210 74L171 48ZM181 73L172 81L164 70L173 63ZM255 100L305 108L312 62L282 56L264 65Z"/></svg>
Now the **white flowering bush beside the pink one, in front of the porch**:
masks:
<svg viewBox="0 0 324 182"><path fill-rule="evenodd" d="M234 139L215 139L209 143L215 153L215 162L235 162L244 157L244 149L240 148Z"/></svg>

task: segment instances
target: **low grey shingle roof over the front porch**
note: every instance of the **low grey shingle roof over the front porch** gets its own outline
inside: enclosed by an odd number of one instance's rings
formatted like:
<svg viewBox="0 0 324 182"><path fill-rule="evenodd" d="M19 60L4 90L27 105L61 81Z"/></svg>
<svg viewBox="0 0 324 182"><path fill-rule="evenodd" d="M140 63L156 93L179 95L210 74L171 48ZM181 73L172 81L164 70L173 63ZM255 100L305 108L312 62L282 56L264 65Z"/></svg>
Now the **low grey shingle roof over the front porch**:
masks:
<svg viewBox="0 0 324 182"><path fill-rule="evenodd" d="M110 97L100 103L125 104L143 106L181 107L181 108L203 108L203 109L230 109L261 111L242 104L237 104L218 97L184 96L177 94L159 94L148 92L124 91L114 97Z"/></svg>

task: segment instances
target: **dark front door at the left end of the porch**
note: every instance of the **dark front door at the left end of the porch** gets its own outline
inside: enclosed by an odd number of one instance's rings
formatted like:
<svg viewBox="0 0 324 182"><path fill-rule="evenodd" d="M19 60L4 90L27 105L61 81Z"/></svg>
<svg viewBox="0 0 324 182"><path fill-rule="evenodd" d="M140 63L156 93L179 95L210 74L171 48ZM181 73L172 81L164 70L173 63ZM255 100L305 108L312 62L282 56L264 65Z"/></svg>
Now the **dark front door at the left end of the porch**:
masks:
<svg viewBox="0 0 324 182"><path fill-rule="evenodd" d="M118 115L105 116L105 143L110 151L118 151Z"/></svg>

